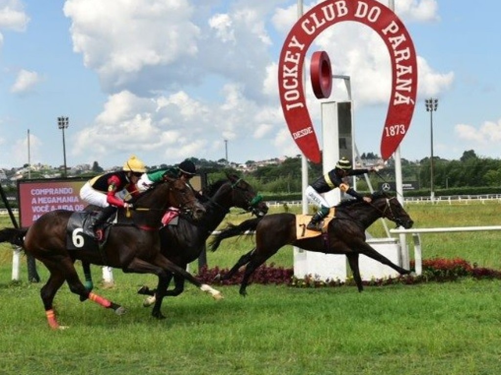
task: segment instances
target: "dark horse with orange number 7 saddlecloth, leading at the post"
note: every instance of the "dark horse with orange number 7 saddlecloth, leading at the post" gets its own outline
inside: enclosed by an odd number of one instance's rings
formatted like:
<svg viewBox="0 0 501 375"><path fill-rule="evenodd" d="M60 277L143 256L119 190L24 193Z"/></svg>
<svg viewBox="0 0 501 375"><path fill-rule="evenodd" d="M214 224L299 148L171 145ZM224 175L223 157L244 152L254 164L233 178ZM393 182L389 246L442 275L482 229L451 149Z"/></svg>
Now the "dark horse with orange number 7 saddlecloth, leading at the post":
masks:
<svg viewBox="0 0 501 375"><path fill-rule="evenodd" d="M395 197L389 197L385 193L374 193L371 197L371 203L351 199L338 204L335 218L329 222L326 235L297 239L296 215L293 213L275 213L245 220L236 226L230 225L214 237L211 243L212 250L215 250L224 238L241 235L247 230L256 231L256 247L242 255L226 274L216 277L228 279L246 264L239 290L241 295L245 295L250 275L286 244L309 251L345 254L359 291L363 289L358 266L359 254L378 260L401 274L410 273L372 248L365 241L365 229L380 217L386 217L406 229L414 222Z"/></svg>

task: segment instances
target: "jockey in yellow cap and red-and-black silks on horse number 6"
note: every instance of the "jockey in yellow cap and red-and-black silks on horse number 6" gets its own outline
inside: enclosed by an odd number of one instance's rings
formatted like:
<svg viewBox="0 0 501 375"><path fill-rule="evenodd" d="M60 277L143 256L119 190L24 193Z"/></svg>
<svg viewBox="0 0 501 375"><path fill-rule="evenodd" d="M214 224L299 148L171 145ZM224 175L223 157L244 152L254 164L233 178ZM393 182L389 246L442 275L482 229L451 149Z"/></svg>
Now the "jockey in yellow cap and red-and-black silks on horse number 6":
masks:
<svg viewBox="0 0 501 375"><path fill-rule="evenodd" d="M104 207L96 215L96 221L91 227L98 240L103 239L101 225L116 211L116 207L132 208L132 204L116 196L117 193L126 190L132 196L137 195L139 191L136 183L144 172L146 172L145 164L132 155L124 163L122 170L98 175L82 186L80 197L83 200Z"/></svg>

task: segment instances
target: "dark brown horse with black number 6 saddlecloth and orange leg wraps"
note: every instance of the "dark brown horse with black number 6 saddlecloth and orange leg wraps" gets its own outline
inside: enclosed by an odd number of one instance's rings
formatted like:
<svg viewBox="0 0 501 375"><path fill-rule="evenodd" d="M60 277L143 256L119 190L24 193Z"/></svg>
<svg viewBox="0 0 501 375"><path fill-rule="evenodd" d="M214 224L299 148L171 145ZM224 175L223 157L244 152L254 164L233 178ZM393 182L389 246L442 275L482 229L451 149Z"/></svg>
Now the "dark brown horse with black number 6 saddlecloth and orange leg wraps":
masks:
<svg viewBox="0 0 501 375"><path fill-rule="evenodd" d="M162 318L160 311L162 299L167 289L167 272L182 274L190 282L214 297L219 292L206 284L201 284L190 273L177 266L160 254L160 238L158 228L164 212L171 206L181 210L189 210L194 217L201 217L205 211L195 199L193 192L178 179L170 179L154 188L140 194L132 201L134 211L118 210L119 221L127 219L131 214L132 222L114 225L102 250L96 250L95 242L80 239L73 241L80 247L71 248L67 241L67 224L74 213L68 210L55 210L42 215L28 229L6 228L0 230L0 242L9 241L24 247L25 251L40 260L50 271L47 283L41 289L41 297L47 314L48 323L52 328L59 328L53 308L56 292L64 281L68 282L70 290L78 294L80 299L91 299L100 305L113 309L121 314L125 309L119 304L109 301L90 292L80 281L74 267L76 259L92 264L110 265L122 268L124 272L153 273L158 276L157 300L152 315ZM78 232L73 237L78 237ZM24 238L23 238L24 237ZM82 242L83 240L83 242ZM77 246L78 247L78 246Z"/></svg>

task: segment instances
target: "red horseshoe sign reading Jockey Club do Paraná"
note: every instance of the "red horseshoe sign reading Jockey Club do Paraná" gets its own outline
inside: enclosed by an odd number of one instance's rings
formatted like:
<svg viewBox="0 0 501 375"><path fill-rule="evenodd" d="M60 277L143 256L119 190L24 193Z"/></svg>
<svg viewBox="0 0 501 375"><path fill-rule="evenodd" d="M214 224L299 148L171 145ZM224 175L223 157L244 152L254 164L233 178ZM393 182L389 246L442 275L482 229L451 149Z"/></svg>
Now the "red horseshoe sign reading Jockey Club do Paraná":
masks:
<svg viewBox="0 0 501 375"><path fill-rule="evenodd" d="M306 107L303 63L313 40L327 27L342 21L360 22L371 27L384 40L390 53L391 96L381 136L381 156L386 160L407 133L414 113L417 61L414 44L402 21L376 0L326 0L298 19L280 54L278 83L282 110L300 150L311 161L320 162L317 136Z"/></svg>

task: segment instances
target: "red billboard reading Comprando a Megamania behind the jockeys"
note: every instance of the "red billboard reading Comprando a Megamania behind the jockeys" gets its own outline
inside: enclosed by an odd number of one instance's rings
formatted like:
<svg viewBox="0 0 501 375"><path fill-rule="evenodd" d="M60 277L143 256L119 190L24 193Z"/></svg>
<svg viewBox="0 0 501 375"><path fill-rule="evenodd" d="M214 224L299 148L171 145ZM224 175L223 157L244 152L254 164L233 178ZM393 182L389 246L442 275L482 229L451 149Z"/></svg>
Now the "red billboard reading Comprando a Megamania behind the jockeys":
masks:
<svg viewBox="0 0 501 375"><path fill-rule="evenodd" d="M40 216L55 209L82 211L88 204L80 198L82 178L36 179L18 181L19 219L30 226Z"/></svg>

